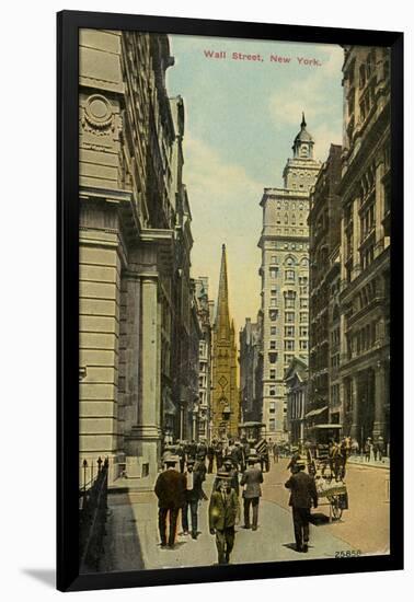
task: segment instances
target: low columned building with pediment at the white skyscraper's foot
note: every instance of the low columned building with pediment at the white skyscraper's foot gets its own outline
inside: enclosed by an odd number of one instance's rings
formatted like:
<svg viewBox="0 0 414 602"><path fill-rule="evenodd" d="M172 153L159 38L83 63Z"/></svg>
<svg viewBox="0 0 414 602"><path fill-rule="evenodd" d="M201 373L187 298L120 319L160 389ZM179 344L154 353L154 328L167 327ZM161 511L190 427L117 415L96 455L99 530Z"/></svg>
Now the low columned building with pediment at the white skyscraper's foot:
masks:
<svg viewBox="0 0 414 602"><path fill-rule="evenodd" d="M306 440L306 412L308 396L308 364L294 358L285 373L287 394L287 430L289 442L296 445Z"/></svg>

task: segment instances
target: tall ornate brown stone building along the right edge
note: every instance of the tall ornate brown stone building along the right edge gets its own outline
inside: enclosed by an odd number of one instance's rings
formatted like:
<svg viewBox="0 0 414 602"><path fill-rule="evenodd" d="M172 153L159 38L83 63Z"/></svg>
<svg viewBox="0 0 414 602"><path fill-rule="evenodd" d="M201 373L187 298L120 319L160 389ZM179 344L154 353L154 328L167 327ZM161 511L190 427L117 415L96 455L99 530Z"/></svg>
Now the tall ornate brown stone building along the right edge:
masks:
<svg viewBox="0 0 414 602"><path fill-rule="evenodd" d="M390 53L346 46L341 229L344 430L389 439ZM399 199L395 199L395 201Z"/></svg>

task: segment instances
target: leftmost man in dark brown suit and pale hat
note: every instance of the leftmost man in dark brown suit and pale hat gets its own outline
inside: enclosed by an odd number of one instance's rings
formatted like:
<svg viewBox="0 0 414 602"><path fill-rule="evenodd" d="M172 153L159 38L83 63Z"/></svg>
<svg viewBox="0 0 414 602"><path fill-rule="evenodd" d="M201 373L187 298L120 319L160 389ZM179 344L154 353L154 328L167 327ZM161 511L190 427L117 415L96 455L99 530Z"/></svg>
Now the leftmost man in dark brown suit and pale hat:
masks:
<svg viewBox="0 0 414 602"><path fill-rule="evenodd" d="M165 471L156 483L158 497L158 528L160 531L161 547L166 546L166 516L170 513L169 547L174 547L176 521L180 508L185 502L185 476L175 470L179 458L170 455L165 460Z"/></svg>

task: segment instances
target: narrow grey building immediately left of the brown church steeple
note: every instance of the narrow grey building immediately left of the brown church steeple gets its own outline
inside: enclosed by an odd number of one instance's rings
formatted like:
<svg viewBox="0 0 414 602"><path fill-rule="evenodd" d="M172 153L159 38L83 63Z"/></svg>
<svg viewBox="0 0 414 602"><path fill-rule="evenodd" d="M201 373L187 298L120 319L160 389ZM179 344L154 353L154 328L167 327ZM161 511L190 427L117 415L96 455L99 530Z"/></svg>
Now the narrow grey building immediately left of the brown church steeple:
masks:
<svg viewBox="0 0 414 602"><path fill-rule="evenodd" d="M208 278L195 279L198 320L202 328L198 371L198 439L210 440L211 419L211 301L208 299Z"/></svg>

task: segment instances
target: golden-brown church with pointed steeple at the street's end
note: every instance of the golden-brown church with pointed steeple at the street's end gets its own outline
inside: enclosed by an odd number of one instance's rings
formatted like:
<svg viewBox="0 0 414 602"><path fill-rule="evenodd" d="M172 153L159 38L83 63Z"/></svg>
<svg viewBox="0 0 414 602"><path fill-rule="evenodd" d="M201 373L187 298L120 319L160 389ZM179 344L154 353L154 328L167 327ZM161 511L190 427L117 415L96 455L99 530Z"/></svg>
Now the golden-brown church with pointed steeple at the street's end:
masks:
<svg viewBox="0 0 414 602"><path fill-rule="evenodd" d="M212 329L212 438L235 437L239 419L234 323L230 321L226 245L222 245L216 320Z"/></svg>

